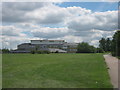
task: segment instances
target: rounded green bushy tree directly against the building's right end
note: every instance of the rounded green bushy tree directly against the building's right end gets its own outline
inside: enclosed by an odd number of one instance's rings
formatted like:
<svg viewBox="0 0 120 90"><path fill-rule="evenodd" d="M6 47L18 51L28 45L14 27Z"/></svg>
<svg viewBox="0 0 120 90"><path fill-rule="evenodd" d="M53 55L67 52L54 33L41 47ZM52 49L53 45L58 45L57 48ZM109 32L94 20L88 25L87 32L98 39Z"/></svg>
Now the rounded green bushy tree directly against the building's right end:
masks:
<svg viewBox="0 0 120 90"><path fill-rule="evenodd" d="M82 42L78 44L77 53L94 53L95 47L89 45L86 42Z"/></svg>

